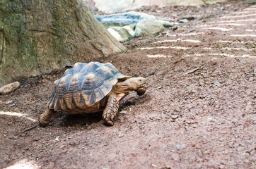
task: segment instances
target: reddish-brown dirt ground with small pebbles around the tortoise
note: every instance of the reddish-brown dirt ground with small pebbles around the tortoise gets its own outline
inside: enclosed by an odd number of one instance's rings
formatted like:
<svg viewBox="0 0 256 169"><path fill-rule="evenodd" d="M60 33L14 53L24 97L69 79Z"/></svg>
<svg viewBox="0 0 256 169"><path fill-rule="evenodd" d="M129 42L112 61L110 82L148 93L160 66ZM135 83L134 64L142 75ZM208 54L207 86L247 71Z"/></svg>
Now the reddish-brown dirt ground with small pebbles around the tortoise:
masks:
<svg viewBox="0 0 256 169"><path fill-rule="evenodd" d="M112 127L102 113L60 112L42 128L63 71L22 80L0 96L0 168L256 168L256 5L137 11L176 26L98 61L146 77L146 94L122 100Z"/></svg>

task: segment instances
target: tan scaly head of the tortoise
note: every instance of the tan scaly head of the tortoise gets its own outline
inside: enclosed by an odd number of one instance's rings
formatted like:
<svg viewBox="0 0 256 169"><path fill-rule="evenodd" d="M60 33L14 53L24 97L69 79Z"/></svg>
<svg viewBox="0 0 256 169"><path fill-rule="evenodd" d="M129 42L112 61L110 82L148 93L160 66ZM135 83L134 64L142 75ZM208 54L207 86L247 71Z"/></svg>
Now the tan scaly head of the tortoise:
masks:
<svg viewBox="0 0 256 169"><path fill-rule="evenodd" d="M146 92L146 79L144 77L132 77L125 81L129 83L130 88L137 92L139 96Z"/></svg>

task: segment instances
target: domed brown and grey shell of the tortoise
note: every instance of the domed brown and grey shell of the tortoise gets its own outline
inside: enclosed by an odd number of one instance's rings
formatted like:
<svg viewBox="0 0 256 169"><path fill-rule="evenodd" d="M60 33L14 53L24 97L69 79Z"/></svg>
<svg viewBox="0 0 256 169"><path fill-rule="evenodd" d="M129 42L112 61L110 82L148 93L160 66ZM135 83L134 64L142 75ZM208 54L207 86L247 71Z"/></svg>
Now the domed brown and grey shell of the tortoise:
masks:
<svg viewBox="0 0 256 169"><path fill-rule="evenodd" d="M76 63L54 82L47 106L54 111L72 111L92 106L111 91L118 79L128 79L111 63Z"/></svg>

